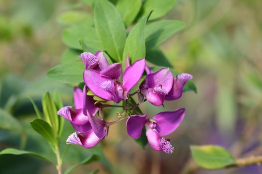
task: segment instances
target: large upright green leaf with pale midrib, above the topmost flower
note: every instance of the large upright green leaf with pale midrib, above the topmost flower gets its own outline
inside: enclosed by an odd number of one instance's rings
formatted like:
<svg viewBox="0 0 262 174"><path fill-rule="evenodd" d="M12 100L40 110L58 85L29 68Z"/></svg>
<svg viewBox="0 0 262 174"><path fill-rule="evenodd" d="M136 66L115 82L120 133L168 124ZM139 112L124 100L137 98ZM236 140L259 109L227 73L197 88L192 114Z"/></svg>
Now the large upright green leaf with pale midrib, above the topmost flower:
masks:
<svg viewBox="0 0 262 174"><path fill-rule="evenodd" d="M97 0L94 22L104 50L116 62L121 62L126 32L124 22L115 6L107 0Z"/></svg>

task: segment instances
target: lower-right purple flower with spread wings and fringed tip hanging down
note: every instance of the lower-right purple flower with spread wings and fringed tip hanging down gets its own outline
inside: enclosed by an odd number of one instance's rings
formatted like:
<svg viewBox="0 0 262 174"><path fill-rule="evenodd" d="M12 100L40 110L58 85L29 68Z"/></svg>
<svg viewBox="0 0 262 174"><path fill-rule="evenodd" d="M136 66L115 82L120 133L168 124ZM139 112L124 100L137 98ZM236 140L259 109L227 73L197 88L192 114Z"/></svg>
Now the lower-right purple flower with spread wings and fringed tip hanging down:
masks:
<svg viewBox="0 0 262 174"><path fill-rule="evenodd" d="M146 115L130 115L126 122L127 133L132 138L139 138L143 127L146 127L146 136L150 146L156 151L173 153L174 148L169 140L163 138L174 132L185 116L185 108L171 112L160 112L153 119Z"/></svg>

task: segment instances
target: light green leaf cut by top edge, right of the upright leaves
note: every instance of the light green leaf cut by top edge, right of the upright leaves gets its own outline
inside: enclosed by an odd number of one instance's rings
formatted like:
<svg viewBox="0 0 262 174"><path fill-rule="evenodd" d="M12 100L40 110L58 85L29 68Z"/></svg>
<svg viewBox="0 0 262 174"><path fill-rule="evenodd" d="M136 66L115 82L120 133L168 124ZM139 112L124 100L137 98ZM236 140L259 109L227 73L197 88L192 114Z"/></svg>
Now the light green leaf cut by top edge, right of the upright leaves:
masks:
<svg viewBox="0 0 262 174"><path fill-rule="evenodd" d="M146 0L143 4L142 16L153 10L153 13L149 19L158 19L173 9L176 3L177 0Z"/></svg>

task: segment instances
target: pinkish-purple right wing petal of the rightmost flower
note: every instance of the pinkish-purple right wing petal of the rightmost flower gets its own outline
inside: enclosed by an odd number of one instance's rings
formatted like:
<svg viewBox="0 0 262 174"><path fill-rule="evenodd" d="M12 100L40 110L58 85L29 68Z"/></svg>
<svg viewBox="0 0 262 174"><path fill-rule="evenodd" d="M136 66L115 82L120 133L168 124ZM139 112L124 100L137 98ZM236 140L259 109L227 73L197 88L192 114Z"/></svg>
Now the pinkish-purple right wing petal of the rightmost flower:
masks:
<svg viewBox="0 0 262 174"><path fill-rule="evenodd" d="M183 86L182 86L181 82L177 78L175 78L174 83L173 83L173 87L171 88L171 90L166 95L165 100L178 99L182 96L182 93L183 93Z"/></svg>

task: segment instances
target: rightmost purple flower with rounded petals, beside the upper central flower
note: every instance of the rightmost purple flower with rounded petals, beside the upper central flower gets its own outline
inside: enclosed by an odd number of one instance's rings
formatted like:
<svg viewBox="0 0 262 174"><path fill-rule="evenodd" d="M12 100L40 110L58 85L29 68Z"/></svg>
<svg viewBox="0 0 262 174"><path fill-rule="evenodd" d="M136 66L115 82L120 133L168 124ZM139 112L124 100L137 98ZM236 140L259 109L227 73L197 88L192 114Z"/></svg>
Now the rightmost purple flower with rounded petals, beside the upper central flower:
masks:
<svg viewBox="0 0 262 174"><path fill-rule="evenodd" d="M164 100L175 100L181 97L183 86L192 79L190 74L183 73L173 78L168 68L153 73L146 67L146 80L140 85L140 92L153 105L160 106Z"/></svg>

